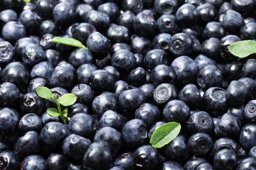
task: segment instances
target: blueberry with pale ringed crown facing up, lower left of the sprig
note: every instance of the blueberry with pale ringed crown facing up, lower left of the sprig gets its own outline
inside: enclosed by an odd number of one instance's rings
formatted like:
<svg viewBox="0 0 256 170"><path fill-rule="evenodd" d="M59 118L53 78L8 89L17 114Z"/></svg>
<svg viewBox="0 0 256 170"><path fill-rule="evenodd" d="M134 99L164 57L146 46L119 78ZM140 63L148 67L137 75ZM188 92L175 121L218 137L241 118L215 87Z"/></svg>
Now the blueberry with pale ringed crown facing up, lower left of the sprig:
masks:
<svg viewBox="0 0 256 170"><path fill-rule="evenodd" d="M43 127L43 122L41 118L34 113L28 113L20 118L20 122L18 122L18 129L23 133L27 131L36 131L39 133L41 128Z"/></svg>

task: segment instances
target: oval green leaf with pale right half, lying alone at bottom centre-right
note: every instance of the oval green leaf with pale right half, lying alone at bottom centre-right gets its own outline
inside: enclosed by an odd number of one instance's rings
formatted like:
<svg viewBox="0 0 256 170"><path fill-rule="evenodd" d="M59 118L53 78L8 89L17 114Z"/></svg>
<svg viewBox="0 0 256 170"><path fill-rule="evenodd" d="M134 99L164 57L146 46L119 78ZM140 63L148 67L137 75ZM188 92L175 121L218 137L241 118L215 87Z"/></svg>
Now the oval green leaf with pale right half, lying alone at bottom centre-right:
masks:
<svg viewBox="0 0 256 170"><path fill-rule="evenodd" d="M169 122L158 127L150 138L150 144L154 148L161 148L175 139L181 131L181 124Z"/></svg>

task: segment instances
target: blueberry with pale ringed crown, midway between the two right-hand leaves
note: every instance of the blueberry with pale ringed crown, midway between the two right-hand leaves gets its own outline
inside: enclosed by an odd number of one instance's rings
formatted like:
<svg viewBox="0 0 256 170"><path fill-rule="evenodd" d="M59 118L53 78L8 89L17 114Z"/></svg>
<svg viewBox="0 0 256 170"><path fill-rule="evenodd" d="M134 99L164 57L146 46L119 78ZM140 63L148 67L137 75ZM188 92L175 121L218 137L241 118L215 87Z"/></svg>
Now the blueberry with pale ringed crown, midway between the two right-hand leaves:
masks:
<svg viewBox="0 0 256 170"><path fill-rule="evenodd" d="M223 88L208 88L203 94L205 109L215 116L222 115L228 109L226 90Z"/></svg>

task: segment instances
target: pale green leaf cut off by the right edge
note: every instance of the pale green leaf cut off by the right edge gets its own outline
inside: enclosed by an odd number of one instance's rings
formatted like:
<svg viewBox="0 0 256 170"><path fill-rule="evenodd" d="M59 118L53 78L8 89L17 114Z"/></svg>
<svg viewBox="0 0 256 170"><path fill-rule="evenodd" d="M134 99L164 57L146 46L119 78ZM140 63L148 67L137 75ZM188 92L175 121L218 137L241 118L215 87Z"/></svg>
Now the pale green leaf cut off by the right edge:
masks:
<svg viewBox="0 0 256 170"><path fill-rule="evenodd" d="M256 42L252 40L234 42L228 46L228 50L238 58L245 58L256 53Z"/></svg>

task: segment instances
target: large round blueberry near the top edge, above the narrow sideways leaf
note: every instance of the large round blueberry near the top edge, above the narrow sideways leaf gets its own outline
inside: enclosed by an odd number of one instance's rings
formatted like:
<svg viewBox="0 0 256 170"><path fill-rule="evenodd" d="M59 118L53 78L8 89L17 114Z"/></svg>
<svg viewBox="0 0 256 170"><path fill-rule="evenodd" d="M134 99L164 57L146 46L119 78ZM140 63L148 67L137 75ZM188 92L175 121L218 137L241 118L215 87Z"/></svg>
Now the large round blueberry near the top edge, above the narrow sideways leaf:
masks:
<svg viewBox="0 0 256 170"><path fill-rule="evenodd" d="M75 7L71 3L60 2L53 8L53 19L60 26L72 24L75 21Z"/></svg>

